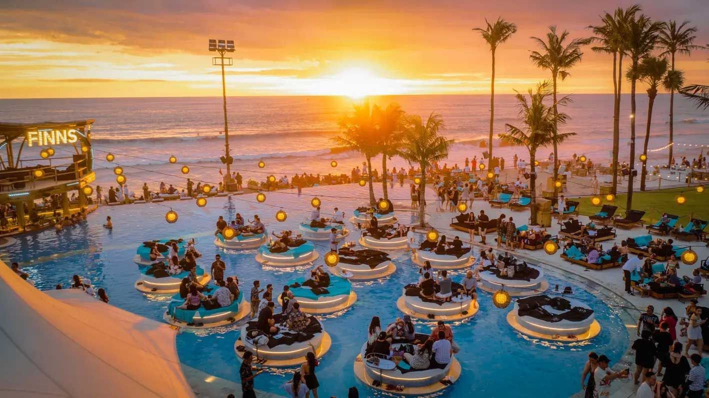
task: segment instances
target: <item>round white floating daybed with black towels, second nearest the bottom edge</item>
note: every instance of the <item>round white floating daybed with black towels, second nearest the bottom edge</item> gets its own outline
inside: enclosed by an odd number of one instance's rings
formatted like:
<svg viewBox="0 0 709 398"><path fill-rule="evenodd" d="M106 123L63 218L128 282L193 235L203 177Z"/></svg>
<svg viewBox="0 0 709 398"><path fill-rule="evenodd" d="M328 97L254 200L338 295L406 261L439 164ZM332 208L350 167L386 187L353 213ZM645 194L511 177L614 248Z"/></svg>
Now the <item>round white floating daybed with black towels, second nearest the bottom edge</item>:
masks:
<svg viewBox="0 0 709 398"><path fill-rule="evenodd" d="M299 341L292 344L282 344L269 348L266 344L262 346L257 346L252 339L247 337L246 328L248 324L242 326L240 339L234 344L234 351L239 358L243 358L244 353L238 350L239 346L243 346L247 351L251 351L257 358L267 359L264 363L266 366L274 367L289 367L289 366L300 366L305 362L306 353L312 351L309 344L315 347L316 358L322 358L330 350L330 346L333 344L333 340L330 338L330 334L325 331L316 333L312 339L306 341Z"/></svg>

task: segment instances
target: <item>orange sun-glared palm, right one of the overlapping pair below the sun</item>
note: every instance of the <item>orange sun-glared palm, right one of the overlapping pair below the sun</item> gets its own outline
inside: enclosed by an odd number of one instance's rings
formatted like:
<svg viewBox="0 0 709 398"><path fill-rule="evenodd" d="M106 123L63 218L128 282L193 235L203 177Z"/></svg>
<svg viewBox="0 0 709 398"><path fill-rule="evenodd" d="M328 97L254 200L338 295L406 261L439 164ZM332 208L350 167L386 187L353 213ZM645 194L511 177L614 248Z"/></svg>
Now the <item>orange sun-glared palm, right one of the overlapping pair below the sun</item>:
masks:
<svg viewBox="0 0 709 398"><path fill-rule="evenodd" d="M381 153L381 183L384 199L389 199L389 190L386 187L386 158L391 159L397 154L403 142L401 123L404 115L398 103L390 103L385 109L376 108L376 123L379 127L377 137L378 151Z"/></svg>

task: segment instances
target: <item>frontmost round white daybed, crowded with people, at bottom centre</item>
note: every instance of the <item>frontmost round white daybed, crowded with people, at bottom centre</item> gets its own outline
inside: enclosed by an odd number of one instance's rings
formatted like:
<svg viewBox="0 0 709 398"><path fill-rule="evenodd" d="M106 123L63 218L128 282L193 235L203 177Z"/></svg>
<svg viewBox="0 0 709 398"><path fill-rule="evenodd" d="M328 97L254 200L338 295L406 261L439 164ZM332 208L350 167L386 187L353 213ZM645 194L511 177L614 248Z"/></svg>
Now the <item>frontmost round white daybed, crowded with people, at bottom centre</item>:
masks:
<svg viewBox="0 0 709 398"><path fill-rule="evenodd" d="M417 333L416 338L425 341L428 336ZM401 346L402 343L391 344L392 350L398 350ZM460 363L455 356L451 356L450 363L445 368L413 370L403 360L398 365L392 360L384 358L379 358L378 363L374 363L372 358L376 354L370 353L368 357L365 354L366 350L367 342L362 345L359 355L354 360L354 375L369 387L377 390L393 394L423 396L445 389L447 385L440 383L441 380L447 379L454 382L460 376ZM374 387L372 385L374 380L379 380L381 385ZM386 385L402 386L403 390L386 390Z"/></svg>

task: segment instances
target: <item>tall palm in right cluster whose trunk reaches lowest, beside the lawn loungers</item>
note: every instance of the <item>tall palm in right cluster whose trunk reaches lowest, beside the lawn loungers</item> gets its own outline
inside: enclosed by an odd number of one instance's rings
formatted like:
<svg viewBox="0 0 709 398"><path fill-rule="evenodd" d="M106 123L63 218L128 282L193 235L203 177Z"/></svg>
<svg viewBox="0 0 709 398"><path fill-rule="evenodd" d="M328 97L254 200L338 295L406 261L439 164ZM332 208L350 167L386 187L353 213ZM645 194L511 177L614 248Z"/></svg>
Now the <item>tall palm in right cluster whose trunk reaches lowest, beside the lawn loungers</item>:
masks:
<svg viewBox="0 0 709 398"><path fill-rule="evenodd" d="M657 34L662 28L661 22L652 21L644 15L633 17L627 25L625 52L630 58L627 78L630 80L630 176L627 178L627 203L625 208L632 209L632 171L635 171L635 86L640 78L638 67L640 59L647 57L654 50Z"/></svg>

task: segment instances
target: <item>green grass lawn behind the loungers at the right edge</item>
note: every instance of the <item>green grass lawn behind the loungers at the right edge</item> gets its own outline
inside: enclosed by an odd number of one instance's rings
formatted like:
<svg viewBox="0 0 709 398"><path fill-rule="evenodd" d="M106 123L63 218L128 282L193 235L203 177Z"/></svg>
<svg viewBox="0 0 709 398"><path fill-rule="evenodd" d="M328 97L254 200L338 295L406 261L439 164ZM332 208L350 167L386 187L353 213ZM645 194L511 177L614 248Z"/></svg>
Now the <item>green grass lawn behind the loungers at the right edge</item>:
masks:
<svg viewBox="0 0 709 398"><path fill-rule="evenodd" d="M675 198L679 193L683 192L687 198L684 205L677 204ZM615 211L616 215L625 215L625 193L618 195L613 203L605 201L605 196L601 196L601 204L594 206L591 204L591 197L585 198L569 198L569 200L578 200L581 203L579 212L582 215L594 215L601 211L601 206L604 204L618 206ZM698 193L696 187L681 187L669 188L660 191L635 192L632 195L632 208L634 210L643 210L645 216L642 220L648 224L654 224L659 220L662 213L679 215L678 224L686 225L691 217L700 220L709 220L709 187L705 188L703 193Z"/></svg>

